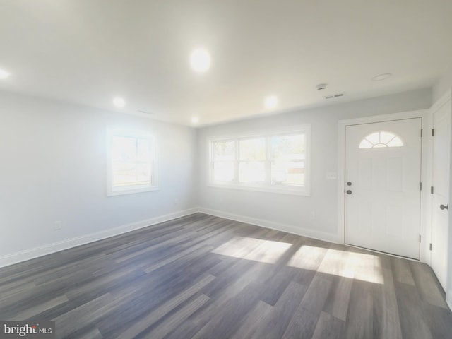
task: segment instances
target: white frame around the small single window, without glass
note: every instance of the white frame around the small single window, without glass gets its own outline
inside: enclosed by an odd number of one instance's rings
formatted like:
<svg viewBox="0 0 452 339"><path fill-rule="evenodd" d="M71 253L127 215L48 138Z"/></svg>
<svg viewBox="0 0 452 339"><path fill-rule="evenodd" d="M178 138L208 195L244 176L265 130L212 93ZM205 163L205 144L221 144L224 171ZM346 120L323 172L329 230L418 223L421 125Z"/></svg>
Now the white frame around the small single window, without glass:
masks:
<svg viewBox="0 0 452 339"><path fill-rule="evenodd" d="M112 141L115 136L147 139L150 141L150 184L130 184L121 187L113 186L113 167L112 167ZM107 196L119 196L124 194L136 194L160 190L158 186L158 153L157 138L149 131L139 129L125 129L117 126L107 126L106 131L106 155L107 155ZM137 160L138 161L138 160Z"/></svg>

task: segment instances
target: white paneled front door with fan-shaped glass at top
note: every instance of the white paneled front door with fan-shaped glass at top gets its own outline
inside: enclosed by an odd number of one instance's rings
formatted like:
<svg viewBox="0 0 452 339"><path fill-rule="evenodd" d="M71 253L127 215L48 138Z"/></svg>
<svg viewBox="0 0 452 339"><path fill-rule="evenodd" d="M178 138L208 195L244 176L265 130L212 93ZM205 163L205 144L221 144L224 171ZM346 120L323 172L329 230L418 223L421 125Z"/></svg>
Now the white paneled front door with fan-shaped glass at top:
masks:
<svg viewBox="0 0 452 339"><path fill-rule="evenodd" d="M345 243L420 258L422 119L345 126Z"/></svg>

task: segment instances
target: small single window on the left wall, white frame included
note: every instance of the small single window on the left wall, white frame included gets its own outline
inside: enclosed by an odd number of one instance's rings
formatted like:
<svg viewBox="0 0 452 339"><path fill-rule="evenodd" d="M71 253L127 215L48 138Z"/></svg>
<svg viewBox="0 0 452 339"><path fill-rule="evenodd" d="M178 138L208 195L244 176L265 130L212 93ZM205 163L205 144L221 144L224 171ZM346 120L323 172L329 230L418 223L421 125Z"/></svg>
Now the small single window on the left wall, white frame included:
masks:
<svg viewBox="0 0 452 339"><path fill-rule="evenodd" d="M107 196L157 190L157 145L146 131L107 128Z"/></svg>

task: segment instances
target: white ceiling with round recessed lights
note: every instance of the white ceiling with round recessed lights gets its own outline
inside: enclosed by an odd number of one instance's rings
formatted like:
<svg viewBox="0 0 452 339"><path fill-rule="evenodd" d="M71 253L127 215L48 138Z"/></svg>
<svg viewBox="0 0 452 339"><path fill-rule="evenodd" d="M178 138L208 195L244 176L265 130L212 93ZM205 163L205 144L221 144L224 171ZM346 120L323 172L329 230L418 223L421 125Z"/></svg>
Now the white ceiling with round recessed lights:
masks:
<svg viewBox="0 0 452 339"><path fill-rule="evenodd" d="M199 46L206 73L189 66ZM179 124L426 88L450 66L451 0L0 2L1 89Z"/></svg>

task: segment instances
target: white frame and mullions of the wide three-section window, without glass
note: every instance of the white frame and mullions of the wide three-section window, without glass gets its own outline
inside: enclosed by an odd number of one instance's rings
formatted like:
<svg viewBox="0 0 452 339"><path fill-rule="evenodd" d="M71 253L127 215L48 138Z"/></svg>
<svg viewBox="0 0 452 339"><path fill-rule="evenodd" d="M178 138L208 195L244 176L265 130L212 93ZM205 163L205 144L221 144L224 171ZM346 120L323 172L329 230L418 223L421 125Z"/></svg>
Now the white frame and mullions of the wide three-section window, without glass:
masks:
<svg viewBox="0 0 452 339"><path fill-rule="evenodd" d="M285 135L296 135L304 134L305 138L305 151L304 151L304 185L295 186L275 186L271 184L271 164L273 157L271 154L270 138L272 136L285 136ZM250 138L263 137L266 140L266 159L265 162L266 169L266 179L262 184L259 183L249 183L240 182L239 178L239 166L240 162L244 160L240 159L239 155L239 141L246 140ZM234 141L234 176L231 182L220 182L215 181L214 178L214 165L215 161L213 159L213 143L218 141ZM208 186L216 188L227 188L227 189L243 189L248 191L263 191L278 194L293 194L298 196L311 196L311 124L303 124L298 126L292 126L280 129L270 129L266 131L254 131L245 133L234 133L227 134L223 136L210 136L207 138L208 142Z"/></svg>

